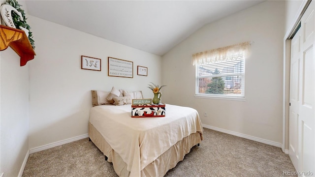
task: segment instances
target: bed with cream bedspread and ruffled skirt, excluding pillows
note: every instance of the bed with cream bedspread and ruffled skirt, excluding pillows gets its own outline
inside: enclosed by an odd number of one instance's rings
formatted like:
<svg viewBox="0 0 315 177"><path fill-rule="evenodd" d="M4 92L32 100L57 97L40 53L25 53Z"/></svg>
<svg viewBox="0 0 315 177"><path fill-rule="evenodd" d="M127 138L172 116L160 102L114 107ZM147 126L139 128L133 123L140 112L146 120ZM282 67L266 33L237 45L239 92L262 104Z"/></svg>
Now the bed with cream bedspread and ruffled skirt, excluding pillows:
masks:
<svg viewBox="0 0 315 177"><path fill-rule="evenodd" d="M90 110L91 141L120 177L162 177L201 143L198 112L165 104L166 116L131 118L131 105L98 105Z"/></svg>

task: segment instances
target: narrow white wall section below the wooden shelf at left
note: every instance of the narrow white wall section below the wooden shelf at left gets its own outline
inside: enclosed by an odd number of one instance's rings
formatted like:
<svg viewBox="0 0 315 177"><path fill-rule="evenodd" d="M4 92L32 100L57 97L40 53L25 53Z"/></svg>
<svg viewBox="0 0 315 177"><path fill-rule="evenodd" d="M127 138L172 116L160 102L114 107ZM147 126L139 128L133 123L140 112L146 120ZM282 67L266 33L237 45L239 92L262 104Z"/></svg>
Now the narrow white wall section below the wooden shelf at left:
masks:
<svg viewBox="0 0 315 177"><path fill-rule="evenodd" d="M11 49L0 52L1 172L17 177L29 150L29 67Z"/></svg>

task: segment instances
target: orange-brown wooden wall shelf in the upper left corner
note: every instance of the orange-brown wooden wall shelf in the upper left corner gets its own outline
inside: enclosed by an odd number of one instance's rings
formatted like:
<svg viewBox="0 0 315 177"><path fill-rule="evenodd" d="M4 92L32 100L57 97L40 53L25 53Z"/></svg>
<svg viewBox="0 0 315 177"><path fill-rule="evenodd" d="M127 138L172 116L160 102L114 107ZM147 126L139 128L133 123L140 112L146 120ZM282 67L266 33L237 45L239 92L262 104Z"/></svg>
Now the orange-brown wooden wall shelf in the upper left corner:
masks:
<svg viewBox="0 0 315 177"><path fill-rule="evenodd" d="M20 66L26 65L36 55L23 30L0 25L0 51L8 46L20 56Z"/></svg>

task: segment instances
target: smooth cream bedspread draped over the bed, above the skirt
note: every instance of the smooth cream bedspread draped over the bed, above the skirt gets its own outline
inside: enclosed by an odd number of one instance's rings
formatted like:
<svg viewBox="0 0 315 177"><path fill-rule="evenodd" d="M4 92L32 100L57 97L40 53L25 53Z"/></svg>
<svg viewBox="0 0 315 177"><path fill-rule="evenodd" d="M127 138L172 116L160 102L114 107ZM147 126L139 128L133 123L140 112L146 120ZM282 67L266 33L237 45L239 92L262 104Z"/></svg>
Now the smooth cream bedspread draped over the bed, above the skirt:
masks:
<svg viewBox="0 0 315 177"><path fill-rule="evenodd" d="M184 137L202 133L195 109L169 104L165 109L165 117L131 118L131 105L91 108L91 124L125 161L130 177L140 177L143 168Z"/></svg>

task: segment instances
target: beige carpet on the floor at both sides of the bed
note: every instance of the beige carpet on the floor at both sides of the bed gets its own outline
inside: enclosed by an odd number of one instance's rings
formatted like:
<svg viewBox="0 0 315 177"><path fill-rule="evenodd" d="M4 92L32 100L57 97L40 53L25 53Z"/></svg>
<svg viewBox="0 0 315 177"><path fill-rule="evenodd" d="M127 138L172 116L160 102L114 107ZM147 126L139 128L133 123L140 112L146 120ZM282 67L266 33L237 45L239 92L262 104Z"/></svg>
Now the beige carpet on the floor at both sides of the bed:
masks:
<svg viewBox="0 0 315 177"><path fill-rule="evenodd" d="M281 148L204 128L204 141L191 148L165 177L282 177L295 171ZM30 154L23 177L117 177L113 165L88 138Z"/></svg>

